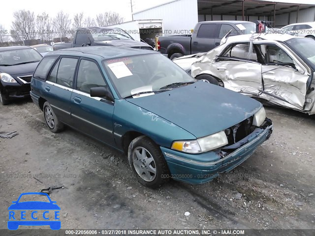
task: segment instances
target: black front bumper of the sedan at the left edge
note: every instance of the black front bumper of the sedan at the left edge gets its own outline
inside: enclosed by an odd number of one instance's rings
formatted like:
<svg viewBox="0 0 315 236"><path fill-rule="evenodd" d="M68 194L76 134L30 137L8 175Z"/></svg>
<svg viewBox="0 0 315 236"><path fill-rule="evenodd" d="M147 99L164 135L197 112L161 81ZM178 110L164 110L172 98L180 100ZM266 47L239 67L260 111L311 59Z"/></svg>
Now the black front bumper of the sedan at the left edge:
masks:
<svg viewBox="0 0 315 236"><path fill-rule="evenodd" d="M20 85L18 83L1 82L1 94L7 100L30 97L31 83Z"/></svg>

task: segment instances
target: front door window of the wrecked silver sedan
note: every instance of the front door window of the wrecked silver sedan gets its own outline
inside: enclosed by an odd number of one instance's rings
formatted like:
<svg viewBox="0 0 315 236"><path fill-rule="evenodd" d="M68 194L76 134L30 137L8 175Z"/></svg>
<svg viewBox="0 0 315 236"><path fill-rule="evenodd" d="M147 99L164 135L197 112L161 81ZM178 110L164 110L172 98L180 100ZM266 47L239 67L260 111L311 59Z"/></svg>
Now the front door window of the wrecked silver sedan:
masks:
<svg viewBox="0 0 315 236"><path fill-rule="evenodd" d="M293 59L276 44L261 44L260 47L267 63L294 63Z"/></svg>

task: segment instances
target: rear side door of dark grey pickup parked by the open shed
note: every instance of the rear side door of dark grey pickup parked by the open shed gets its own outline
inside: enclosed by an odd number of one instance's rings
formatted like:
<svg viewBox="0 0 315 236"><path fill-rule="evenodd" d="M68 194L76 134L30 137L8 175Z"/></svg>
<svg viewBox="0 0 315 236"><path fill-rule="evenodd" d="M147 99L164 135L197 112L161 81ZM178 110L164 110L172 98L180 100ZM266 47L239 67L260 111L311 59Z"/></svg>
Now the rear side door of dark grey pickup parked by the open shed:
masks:
<svg viewBox="0 0 315 236"><path fill-rule="evenodd" d="M220 24L201 24L191 39L191 54L208 52L215 48L215 39L219 37ZM219 42L220 45L220 42Z"/></svg>

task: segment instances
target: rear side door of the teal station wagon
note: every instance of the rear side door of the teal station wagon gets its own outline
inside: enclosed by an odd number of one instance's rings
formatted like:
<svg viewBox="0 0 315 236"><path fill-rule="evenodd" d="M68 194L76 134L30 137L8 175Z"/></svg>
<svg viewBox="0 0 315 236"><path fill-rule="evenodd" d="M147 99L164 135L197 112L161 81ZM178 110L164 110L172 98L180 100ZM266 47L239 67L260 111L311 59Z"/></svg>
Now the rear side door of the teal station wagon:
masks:
<svg viewBox="0 0 315 236"><path fill-rule="evenodd" d="M60 58L50 72L44 89L45 98L50 103L56 116L70 124L70 97L73 90L74 72L78 58Z"/></svg>

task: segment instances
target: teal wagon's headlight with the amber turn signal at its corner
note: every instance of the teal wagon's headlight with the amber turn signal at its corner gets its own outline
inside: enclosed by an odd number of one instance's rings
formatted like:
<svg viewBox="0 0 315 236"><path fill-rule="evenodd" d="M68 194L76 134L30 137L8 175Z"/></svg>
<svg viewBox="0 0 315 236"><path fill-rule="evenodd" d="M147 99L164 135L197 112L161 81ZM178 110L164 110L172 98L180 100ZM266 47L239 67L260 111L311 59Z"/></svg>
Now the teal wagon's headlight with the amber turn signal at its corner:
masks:
<svg viewBox="0 0 315 236"><path fill-rule="evenodd" d="M223 131L191 141L175 141L172 149L188 153L201 153L227 145L227 137Z"/></svg>

